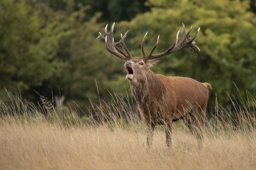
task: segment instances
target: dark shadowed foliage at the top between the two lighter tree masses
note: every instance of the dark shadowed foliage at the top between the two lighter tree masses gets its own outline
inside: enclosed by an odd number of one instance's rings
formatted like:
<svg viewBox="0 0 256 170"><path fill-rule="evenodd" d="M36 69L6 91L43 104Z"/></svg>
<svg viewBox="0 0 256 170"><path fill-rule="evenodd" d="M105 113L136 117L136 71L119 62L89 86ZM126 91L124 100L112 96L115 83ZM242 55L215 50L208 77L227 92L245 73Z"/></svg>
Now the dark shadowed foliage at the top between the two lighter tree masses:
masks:
<svg viewBox="0 0 256 170"><path fill-rule="evenodd" d="M143 13L150 8L145 6L146 0L37 0L44 2L48 7L58 10L78 11L79 4L89 5L85 11L84 20L90 20L97 12L101 12L101 22L131 20L137 13Z"/></svg>

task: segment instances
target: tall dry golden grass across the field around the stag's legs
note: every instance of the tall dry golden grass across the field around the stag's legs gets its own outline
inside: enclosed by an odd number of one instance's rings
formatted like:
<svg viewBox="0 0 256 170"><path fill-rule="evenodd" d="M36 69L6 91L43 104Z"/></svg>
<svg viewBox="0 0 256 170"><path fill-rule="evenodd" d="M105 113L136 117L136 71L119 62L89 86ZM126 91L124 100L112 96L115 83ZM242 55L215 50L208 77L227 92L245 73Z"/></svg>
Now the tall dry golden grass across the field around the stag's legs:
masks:
<svg viewBox="0 0 256 170"><path fill-rule="evenodd" d="M146 147L146 130L133 121L126 99L89 108L95 117L82 121L76 112L23 102L0 100L0 169L255 169L255 98L234 110L216 105L204 127L203 148L182 122L165 144L161 126ZM128 100L128 99L127 99ZM246 104L247 103L247 104Z"/></svg>

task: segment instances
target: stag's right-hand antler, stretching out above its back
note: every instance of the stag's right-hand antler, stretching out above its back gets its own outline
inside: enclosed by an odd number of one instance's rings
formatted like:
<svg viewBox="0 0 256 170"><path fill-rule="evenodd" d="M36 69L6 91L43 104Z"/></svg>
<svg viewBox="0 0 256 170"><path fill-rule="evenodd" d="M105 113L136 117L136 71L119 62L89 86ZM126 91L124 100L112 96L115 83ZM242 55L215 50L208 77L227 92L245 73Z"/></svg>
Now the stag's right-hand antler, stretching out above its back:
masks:
<svg viewBox="0 0 256 170"><path fill-rule="evenodd" d="M171 54L175 51L178 51L182 48L185 48L185 47L192 47L194 49L194 51L196 52L196 49L198 51L200 51L200 49L195 45L195 41L193 41L199 30L200 30L200 27L198 28L198 30L196 31L195 35L192 37L192 39L189 39L189 33L191 32L192 30L192 26L190 28L190 30L187 32L186 29L185 29L185 25L182 23L182 32L183 32L183 37L182 39L180 40L180 42L177 44L178 42L178 34L180 31L178 31L177 35L176 35L176 40L174 41L173 45L168 48L166 51L160 53L160 54L152 54L155 50L155 48L157 47L157 44L158 44L158 40L159 40L159 35L158 35L158 38L157 38L157 43L155 44L155 46L152 48L152 50L150 51L150 53L148 55L146 55L145 51L144 51L144 41L146 39L146 36L147 36L147 33L146 35L144 36L143 38L143 41L142 41L142 45L141 45L141 48L142 48L142 54L143 54L143 59L145 61L149 60L149 59L154 59L154 58L160 58L160 57L163 57L163 56L166 56L168 54Z"/></svg>

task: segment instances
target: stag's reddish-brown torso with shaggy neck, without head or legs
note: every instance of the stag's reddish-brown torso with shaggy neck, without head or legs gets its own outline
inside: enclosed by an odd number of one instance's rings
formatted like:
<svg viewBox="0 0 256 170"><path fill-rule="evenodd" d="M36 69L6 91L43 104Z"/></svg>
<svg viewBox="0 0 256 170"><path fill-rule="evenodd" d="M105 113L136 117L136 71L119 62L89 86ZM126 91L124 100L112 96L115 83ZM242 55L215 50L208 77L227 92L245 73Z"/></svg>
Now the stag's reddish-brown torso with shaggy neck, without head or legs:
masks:
<svg viewBox="0 0 256 170"><path fill-rule="evenodd" d="M142 88L131 84L132 95L146 122L164 125L166 121L182 118L194 108L192 106L206 110L208 89L203 83L184 77L154 75L152 78L143 82Z"/></svg>

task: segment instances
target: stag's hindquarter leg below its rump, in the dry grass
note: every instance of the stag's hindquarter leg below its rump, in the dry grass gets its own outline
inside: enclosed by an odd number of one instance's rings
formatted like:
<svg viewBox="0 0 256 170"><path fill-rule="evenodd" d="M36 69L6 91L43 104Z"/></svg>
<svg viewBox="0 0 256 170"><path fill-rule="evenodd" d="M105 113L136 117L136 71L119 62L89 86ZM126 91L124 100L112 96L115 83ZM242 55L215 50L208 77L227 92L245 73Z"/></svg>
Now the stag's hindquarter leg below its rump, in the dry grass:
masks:
<svg viewBox="0 0 256 170"><path fill-rule="evenodd" d="M197 138L200 147L202 147L203 141L204 119L205 112L201 108L193 108L182 119L189 131Z"/></svg>

